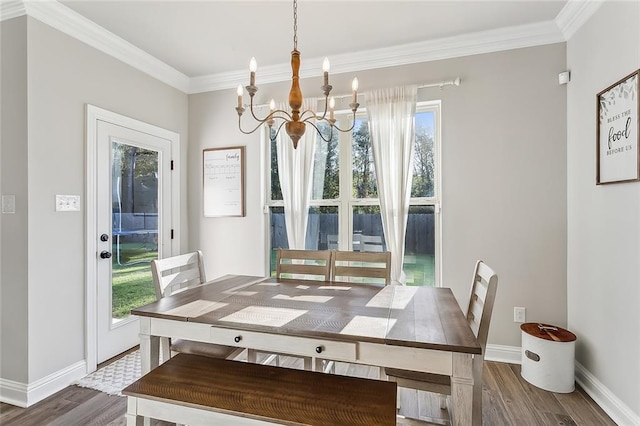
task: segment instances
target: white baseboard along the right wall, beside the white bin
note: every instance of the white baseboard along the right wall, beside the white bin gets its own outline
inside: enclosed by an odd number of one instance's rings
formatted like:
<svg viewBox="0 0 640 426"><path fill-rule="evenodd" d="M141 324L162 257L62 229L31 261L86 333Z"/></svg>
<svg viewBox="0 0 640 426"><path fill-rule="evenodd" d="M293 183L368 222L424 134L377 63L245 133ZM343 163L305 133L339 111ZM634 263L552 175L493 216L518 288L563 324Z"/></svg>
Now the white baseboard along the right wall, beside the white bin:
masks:
<svg viewBox="0 0 640 426"><path fill-rule="evenodd" d="M576 382L619 426L640 425L640 416L576 361Z"/></svg>

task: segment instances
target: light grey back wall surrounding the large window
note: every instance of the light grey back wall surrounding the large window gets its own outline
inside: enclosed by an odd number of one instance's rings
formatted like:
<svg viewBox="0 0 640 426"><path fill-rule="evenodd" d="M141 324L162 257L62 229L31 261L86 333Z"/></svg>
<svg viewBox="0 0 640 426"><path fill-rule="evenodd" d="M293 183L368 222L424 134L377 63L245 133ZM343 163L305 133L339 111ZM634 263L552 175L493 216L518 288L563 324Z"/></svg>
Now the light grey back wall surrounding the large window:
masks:
<svg viewBox="0 0 640 426"><path fill-rule="evenodd" d="M362 93L462 78L458 88L419 97L442 99L443 284L466 304L475 260L496 269L492 344L520 346L514 306L526 307L531 321L567 323L566 87L558 85L565 55L562 43L358 72ZM336 94L348 93L352 77L332 77ZM303 93L319 94L320 84L304 80ZM284 99L288 86L260 87L257 103ZM235 102L235 90L189 97L189 162L197 165L189 171L189 241L203 250L210 277L265 272L259 136L238 131ZM247 146L247 217L205 218L202 149L232 145Z"/></svg>

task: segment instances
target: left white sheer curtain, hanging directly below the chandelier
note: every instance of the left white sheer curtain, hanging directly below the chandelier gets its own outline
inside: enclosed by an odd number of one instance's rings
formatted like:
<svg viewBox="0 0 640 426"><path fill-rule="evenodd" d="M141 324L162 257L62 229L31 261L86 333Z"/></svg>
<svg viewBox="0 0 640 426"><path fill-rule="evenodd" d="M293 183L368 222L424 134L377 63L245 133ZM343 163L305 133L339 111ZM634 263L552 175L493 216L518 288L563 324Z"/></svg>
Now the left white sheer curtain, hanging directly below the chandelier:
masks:
<svg viewBox="0 0 640 426"><path fill-rule="evenodd" d="M316 111L317 99L305 99L302 110ZM282 109L288 110L286 106ZM284 221L290 249L304 249L309 220L309 200L313 183L313 158L316 130L307 125L304 135L293 149L293 142L282 127L276 142L278 174L284 201Z"/></svg>

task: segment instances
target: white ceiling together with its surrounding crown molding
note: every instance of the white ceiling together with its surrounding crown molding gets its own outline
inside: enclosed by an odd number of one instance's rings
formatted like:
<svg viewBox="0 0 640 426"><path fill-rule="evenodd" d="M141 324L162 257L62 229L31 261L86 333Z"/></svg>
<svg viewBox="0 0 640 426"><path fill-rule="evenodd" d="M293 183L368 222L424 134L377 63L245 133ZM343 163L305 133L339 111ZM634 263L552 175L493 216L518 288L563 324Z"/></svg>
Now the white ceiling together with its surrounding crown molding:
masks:
<svg viewBox="0 0 640 426"><path fill-rule="evenodd" d="M289 0L8 1L189 93L244 82L252 56L260 83L291 76ZM587 3L299 0L301 76L320 75L325 56L342 73L565 41Z"/></svg>

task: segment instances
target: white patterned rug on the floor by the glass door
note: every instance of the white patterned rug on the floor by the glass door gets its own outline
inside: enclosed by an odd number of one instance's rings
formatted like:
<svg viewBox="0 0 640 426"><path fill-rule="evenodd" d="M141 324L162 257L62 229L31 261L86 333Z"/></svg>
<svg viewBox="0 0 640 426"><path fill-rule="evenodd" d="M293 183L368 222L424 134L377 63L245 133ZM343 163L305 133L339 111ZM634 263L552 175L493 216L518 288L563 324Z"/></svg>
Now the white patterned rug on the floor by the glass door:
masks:
<svg viewBox="0 0 640 426"><path fill-rule="evenodd" d="M141 375L140 351L137 350L83 377L76 385L122 396L122 389L138 380Z"/></svg>

